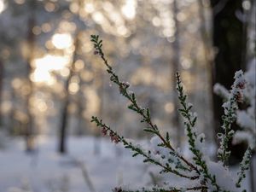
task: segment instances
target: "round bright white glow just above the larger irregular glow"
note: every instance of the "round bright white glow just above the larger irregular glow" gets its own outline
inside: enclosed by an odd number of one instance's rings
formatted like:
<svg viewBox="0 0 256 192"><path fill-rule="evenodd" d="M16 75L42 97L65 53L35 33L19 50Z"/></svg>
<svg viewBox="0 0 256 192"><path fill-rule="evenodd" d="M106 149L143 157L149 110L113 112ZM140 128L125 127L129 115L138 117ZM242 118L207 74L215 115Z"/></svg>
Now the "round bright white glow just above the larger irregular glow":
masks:
<svg viewBox="0 0 256 192"><path fill-rule="evenodd" d="M57 49L67 49L73 44L73 39L70 34L56 33L52 37L52 44L54 44Z"/></svg>

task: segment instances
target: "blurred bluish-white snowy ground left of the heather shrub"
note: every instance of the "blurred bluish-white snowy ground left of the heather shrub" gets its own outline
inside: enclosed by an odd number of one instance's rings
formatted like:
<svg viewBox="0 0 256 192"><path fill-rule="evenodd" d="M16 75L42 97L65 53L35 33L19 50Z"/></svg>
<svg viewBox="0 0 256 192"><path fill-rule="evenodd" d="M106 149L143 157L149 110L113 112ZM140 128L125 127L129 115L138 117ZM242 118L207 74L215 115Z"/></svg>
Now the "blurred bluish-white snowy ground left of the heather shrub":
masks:
<svg viewBox="0 0 256 192"><path fill-rule="evenodd" d="M20 138L0 149L0 192L110 192L159 179L150 177L152 167L105 139L71 137L67 155L57 154L56 146L54 138L39 137L37 152L26 154Z"/></svg>

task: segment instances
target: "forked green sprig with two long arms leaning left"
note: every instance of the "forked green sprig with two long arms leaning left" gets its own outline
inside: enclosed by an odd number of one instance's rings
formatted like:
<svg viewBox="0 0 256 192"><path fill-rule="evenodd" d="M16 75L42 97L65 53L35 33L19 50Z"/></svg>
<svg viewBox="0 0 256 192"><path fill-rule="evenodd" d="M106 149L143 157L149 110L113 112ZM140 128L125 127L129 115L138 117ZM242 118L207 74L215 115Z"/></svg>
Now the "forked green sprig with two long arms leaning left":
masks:
<svg viewBox="0 0 256 192"><path fill-rule="evenodd" d="M104 64L106 65L107 72L110 74L110 80L114 84L117 84L119 86L120 94L122 96L125 96L125 98L127 98L131 102L128 105L128 108L131 109L132 111L138 113L142 118L141 122L145 122L148 125L148 127L145 128L144 131L150 132L150 133L156 135L157 137L159 137L160 140L162 141L161 147L169 148L171 151L170 152L171 154L175 154L179 160L183 161L184 164L189 166L189 168L188 168L189 170L195 170L197 173L199 173L199 171L193 164L191 164L188 160L183 158L182 155L178 154L177 151L172 147L168 133L166 133L166 137L162 137L158 126L155 125L151 120L149 108L140 107L137 104L136 95L131 90L128 90L128 88L130 87L130 84L119 80L119 77L113 71L113 68L108 64L108 61L104 56L104 53L102 51L102 40L100 40L98 36L92 35L91 42L94 43L94 47L96 49L96 55L100 55L102 58L102 61L104 61ZM111 131L111 128L108 125L102 124L102 120L99 120L96 117L92 117L91 121L96 122L96 125L102 127L103 131L105 131L104 129L106 128L108 131L113 132L113 131ZM119 136L117 135L117 137L119 137ZM112 140L113 140L113 137L112 137ZM196 176L196 175L193 177L188 177L188 176L184 175L183 173L178 172L176 169L173 169L172 166L169 165L169 163L166 163L166 165L163 165L159 161L154 160L153 158L150 157L150 155L149 155L151 153L150 151L148 154L144 153L143 150L140 150L139 148L135 147L131 143L126 142L126 140L123 137L119 137L119 141L121 141L125 145L125 148L130 148L132 151L134 151L135 152L135 154L133 154L134 156L137 156L137 154L140 154L143 157L145 157L146 159L144 160L144 162L152 162L155 165L161 166L163 168L161 172L172 172L173 174L176 174L180 177L186 177L186 178L191 178L191 179L198 178L198 176Z"/></svg>

